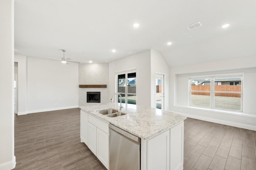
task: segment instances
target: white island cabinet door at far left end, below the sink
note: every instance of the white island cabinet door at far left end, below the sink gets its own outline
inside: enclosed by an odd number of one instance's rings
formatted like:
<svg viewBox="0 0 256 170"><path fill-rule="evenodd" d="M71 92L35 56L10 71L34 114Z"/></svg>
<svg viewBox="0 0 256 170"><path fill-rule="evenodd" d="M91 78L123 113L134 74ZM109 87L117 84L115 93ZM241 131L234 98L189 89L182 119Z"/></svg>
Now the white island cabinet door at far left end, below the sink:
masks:
<svg viewBox="0 0 256 170"><path fill-rule="evenodd" d="M88 113L82 110L80 114L80 139L88 146Z"/></svg>

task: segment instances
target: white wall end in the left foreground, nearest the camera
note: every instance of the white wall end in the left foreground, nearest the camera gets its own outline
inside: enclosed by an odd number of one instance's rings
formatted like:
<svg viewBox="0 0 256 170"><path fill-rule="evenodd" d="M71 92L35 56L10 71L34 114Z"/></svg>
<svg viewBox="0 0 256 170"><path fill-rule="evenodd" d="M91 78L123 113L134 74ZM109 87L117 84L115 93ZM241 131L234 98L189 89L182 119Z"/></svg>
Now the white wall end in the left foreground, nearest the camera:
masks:
<svg viewBox="0 0 256 170"><path fill-rule="evenodd" d="M0 1L0 170L15 167L14 0Z"/></svg>

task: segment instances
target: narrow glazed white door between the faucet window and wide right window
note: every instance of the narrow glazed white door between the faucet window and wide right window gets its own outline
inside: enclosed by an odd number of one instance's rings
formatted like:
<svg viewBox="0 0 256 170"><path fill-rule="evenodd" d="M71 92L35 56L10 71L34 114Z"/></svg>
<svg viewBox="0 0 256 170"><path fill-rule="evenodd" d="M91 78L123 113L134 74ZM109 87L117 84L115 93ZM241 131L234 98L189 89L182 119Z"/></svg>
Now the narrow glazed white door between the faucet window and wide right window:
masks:
<svg viewBox="0 0 256 170"><path fill-rule="evenodd" d="M164 74L156 74L156 108L164 110Z"/></svg>

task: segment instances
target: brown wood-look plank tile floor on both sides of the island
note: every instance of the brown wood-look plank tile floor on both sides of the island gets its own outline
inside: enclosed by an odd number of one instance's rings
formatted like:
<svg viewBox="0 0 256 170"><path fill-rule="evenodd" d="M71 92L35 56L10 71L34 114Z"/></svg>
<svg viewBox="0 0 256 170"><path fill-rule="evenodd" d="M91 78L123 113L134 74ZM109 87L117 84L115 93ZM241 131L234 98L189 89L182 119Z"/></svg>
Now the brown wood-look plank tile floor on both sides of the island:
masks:
<svg viewBox="0 0 256 170"><path fill-rule="evenodd" d="M14 170L106 170L80 143L80 109L15 115ZM187 118L184 170L256 170L256 131Z"/></svg>

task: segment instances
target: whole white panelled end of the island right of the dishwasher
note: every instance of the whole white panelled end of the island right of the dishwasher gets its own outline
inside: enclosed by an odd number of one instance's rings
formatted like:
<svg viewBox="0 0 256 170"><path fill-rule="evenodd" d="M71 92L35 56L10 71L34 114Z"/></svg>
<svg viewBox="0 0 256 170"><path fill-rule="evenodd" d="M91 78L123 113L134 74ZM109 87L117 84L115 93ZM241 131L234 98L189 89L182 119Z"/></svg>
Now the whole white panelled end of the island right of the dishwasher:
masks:
<svg viewBox="0 0 256 170"><path fill-rule="evenodd" d="M141 170L183 170L184 122L144 140L141 139Z"/></svg>

